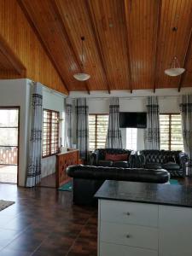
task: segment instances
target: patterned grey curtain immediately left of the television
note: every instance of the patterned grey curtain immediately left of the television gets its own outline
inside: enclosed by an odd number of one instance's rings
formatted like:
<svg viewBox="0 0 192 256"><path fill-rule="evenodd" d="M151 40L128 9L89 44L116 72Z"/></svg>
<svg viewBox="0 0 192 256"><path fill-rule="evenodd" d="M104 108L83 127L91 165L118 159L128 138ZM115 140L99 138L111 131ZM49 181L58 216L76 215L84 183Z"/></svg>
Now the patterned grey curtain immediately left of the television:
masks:
<svg viewBox="0 0 192 256"><path fill-rule="evenodd" d="M121 131L119 129L119 98L110 98L108 134L106 148L122 148Z"/></svg>

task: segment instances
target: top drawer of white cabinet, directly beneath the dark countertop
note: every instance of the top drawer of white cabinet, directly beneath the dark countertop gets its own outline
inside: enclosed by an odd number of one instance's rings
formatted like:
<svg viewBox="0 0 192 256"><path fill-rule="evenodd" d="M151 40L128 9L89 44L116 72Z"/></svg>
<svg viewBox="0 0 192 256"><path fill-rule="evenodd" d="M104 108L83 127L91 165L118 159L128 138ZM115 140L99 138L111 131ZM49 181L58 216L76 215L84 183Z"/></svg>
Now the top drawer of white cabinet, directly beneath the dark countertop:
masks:
<svg viewBox="0 0 192 256"><path fill-rule="evenodd" d="M102 221L158 226L157 205L107 200L100 200L100 204Z"/></svg>

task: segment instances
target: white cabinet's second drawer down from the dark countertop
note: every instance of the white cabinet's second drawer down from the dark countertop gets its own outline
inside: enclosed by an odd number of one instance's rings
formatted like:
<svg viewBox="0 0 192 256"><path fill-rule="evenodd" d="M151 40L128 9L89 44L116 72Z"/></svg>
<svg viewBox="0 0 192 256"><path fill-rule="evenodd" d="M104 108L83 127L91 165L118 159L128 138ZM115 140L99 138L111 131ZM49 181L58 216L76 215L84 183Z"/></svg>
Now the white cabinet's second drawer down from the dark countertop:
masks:
<svg viewBox="0 0 192 256"><path fill-rule="evenodd" d="M158 229L102 222L100 226L100 241L157 250Z"/></svg>

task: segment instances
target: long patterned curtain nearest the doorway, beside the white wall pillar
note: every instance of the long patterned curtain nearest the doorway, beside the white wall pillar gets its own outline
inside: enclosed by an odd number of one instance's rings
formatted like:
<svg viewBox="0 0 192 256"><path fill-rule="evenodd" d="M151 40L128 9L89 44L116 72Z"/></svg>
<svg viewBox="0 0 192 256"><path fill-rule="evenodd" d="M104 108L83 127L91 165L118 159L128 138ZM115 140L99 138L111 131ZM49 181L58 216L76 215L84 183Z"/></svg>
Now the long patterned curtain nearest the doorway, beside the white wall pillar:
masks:
<svg viewBox="0 0 192 256"><path fill-rule="evenodd" d="M42 155L42 86L32 84L32 116L26 187L33 187L41 180Z"/></svg>

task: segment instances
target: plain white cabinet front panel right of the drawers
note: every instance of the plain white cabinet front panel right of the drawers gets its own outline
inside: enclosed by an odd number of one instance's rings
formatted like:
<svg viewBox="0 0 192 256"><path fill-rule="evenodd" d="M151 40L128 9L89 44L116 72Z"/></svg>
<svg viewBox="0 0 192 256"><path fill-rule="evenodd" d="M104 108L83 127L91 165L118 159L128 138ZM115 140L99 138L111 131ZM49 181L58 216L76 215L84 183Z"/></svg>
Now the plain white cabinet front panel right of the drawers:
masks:
<svg viewBox="0 0 192 256"><path fill-rule="evenodd" d="M192 209L159 207L160 256L192 255Z"/></svg>

